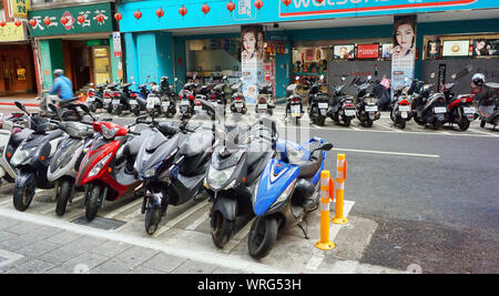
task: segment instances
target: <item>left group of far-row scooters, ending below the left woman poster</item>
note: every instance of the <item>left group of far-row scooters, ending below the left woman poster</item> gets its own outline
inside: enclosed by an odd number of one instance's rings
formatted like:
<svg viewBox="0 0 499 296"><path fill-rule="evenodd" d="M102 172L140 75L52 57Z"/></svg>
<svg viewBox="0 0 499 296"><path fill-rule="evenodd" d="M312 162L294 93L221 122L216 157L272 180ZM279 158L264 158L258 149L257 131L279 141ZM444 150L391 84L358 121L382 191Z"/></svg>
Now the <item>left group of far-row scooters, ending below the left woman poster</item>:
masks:
<svg viewBox="0 0 499 296"><path fill-rule="evenodd" d="M149 80L149 78L147 78ZM183 118L191 118L197 113L207 113L213 120L215 114L203 109L202 100L211 101L215 111L226 114L227 102L233 113L247 113L245 98L241 91L242 80L230 83L224 76L221 83L206 83L200 85L194 81L185 83L176 91L179 80L174 79L174 89L170 86L169 78L162 76L159 84L155 82L138 85L136 91L131 88L134 83L103 83L86 92L86 104L92 112L103 109L110 114L121 115L123 112L131 112L139 116L142 112L153 112L155 116L164 115L173 118L177 109ZM271 85L258 88L256 113L273 114L275 108Z"/></svg>

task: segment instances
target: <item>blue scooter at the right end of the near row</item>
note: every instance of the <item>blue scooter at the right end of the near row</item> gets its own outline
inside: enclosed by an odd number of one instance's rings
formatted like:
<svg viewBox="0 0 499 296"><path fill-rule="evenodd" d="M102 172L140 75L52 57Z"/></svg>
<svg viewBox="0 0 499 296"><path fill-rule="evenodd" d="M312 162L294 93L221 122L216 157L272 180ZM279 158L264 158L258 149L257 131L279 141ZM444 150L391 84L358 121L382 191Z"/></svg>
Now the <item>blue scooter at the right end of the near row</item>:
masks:
<svg viewBox="0 0 499 296"><path fill-rule="evenodd" d="M267 162L256 184L252 201L256 220L247 243L253 258L268 254L284 226L298 225L308 238L303 223L308 213L318 208L320 171L333 144L319 137L306 144L312 152L298 143L279 140L275 157Z"/></svg>

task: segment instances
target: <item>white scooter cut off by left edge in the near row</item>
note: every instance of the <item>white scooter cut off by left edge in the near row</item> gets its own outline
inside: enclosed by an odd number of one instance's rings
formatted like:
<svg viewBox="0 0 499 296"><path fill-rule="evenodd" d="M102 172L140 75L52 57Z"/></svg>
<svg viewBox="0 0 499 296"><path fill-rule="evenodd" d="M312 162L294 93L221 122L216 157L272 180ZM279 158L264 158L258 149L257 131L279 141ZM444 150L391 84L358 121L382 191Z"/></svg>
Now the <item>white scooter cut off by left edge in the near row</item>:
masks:
<svg viewBox="0 0 499 296"><path fill-rule="evenodd" d="M0 116L0 178L14 183L16 169L10 160L18 146L32 131L29 129L29 119L24 113L11 113L9 116Z"/></svg>

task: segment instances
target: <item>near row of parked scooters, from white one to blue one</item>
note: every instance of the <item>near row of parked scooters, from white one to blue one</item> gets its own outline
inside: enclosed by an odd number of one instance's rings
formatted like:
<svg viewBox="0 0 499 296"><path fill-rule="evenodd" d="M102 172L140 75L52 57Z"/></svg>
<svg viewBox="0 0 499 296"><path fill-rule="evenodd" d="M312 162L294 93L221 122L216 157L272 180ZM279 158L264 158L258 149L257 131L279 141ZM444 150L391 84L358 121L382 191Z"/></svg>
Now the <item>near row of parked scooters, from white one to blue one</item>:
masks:
<svg viewBox="0 0 499 296"><path fill-rule="evenodd" d="M215 111L208 100L201 102ZM134 194L143 198L145 231L153 234L169 206L205 191L220 248L236 220L247 215L256 215L248 238L255 258L268 254L285 225L298 225L307 237L303 223L317 210L320 170L333 149L323 139L305 144L279 139L269 116L247 127L211 122L191 129L187 118L175 127L151 112L152 120L142 115L120 126L95 119L85 104L63 110L50 104L57 120L16 105L22 112L4 118L0 130L0 176L16 184L18 211L28 210L37 188L54 187L58 215L64 215L75 192L84 192L85 217L92 221L106 201ZM77 108L88 116L74 120Z"/></svg>

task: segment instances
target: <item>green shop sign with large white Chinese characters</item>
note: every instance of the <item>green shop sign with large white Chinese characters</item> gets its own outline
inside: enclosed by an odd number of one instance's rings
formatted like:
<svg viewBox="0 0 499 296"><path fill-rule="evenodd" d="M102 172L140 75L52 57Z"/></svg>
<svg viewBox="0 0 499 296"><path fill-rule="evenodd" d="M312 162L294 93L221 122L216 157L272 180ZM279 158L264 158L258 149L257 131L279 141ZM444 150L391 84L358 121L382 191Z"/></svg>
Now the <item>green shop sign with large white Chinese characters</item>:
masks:
<svg viewBox="0 0 499 296"><path fill-rule="evenodd" d="M103 16L102 21L98 21L99 14ZM80 16L84 18L83 22L75 21ZM62 17L68 20L65 24L61 22ZM50 19L49 24L43 22L45 18ZM35 21L34 25L29 25L32 37L110 32L113 30L111 3L30 11L29 19Z"/></svg>

